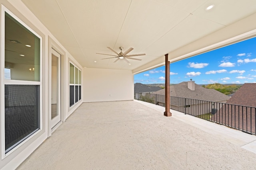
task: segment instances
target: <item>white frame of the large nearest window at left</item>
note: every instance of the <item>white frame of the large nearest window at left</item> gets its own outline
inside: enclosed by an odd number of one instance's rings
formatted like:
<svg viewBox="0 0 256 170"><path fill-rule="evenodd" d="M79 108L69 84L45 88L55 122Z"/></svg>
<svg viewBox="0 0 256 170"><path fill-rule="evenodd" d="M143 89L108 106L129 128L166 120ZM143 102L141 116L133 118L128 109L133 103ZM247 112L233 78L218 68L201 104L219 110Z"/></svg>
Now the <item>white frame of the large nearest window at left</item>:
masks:
<svg viewBox="0 0 256 170"><path fill-rule="evenodd" d="M22 20L20 20L16 15L14 15L10 10L8 10L5 6L1 6L2 12L1 12L1 68L4 68L4 62L5 62L5 12L9 14L12 18L14 18L16 21L18 21L21 25L26 27L29 31L31 31L34 35L36 35L40 39L40 80L39 81L24 81L24 80L6 80L4 79L4 69L1 69L1 101L4 101L4 85L5 84L15 84L15 85L39 85L40 93L39 93L39 129L34 132L32 135L30 135L28 138L26 138L24 141L19 143L17 146L15 146L13 149L11 149L9 152L5 153L5 109L4 109L4 102L1 102L1 149L2 149L2 159L4 159L6 156L10 155L12 152L14 152L16 149L18 149L20 146L22 146L24 143L29 141L32 137L34 137L36 134L38 134L40 131L42 131L43 128L43 121L42 121L42 37L36 33L32 28L30 28L26 23L24 23Z"/></svg>

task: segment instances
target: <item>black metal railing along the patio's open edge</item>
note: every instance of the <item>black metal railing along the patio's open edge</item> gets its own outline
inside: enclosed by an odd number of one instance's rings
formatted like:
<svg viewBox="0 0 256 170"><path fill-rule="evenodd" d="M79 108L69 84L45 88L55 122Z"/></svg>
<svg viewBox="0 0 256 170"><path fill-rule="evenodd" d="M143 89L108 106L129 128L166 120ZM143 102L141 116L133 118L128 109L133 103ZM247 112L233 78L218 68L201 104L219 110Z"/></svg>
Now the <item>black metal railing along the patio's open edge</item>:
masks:
<svg viewBox="0 0 256 170"><path fill-rule="evenodd" d="M134 93L134 99L165 105L165 95L160 94ZM225 102L170 96L170 109L256 135L256 107Z"/></svg>

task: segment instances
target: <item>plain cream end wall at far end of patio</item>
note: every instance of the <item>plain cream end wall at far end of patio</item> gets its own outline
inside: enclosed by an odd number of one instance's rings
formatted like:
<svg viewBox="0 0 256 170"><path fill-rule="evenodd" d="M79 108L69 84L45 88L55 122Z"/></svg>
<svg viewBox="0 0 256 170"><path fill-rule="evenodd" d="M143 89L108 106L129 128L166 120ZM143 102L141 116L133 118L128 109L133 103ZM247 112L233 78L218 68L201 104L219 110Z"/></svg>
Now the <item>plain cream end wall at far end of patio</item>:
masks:
<svg viewBox="0 0 256 170"><path fill-rule="evenodd" d="M83 102L133 100L133 76L131 70L83 68Z"/></svg>

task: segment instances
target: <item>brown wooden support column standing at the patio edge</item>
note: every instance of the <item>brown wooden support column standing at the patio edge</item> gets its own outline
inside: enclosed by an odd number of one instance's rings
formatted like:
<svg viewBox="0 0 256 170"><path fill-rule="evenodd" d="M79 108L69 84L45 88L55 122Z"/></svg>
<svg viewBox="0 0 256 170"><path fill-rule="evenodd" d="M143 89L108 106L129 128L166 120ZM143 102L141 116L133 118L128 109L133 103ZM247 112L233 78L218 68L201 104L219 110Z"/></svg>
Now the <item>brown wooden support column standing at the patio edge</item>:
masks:
<svg viewBox="0 0 256 170"><path fill-rule="evenodd" d="M172 116L170 112L170 61L168 54L165 55L165 116Z"/></svg>

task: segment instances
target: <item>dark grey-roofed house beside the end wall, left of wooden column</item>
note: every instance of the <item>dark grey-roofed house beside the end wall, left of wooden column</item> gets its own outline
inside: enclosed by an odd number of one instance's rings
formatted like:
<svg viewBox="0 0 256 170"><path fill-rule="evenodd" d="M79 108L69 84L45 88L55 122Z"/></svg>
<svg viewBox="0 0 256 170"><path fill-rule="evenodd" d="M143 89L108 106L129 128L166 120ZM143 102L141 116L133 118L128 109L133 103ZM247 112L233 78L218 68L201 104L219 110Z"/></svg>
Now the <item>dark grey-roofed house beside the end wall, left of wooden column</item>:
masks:
<svg viewBox="0 0 256 170"><path fill-rule="evenodd" d="M159 86L148 86L146 84L135 83L134 84L134 99L138 99L139 96L145 96L146 94L150 94L161 90L162 88Z"/></svg>

